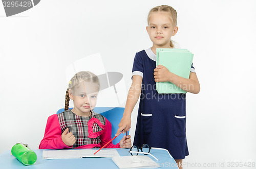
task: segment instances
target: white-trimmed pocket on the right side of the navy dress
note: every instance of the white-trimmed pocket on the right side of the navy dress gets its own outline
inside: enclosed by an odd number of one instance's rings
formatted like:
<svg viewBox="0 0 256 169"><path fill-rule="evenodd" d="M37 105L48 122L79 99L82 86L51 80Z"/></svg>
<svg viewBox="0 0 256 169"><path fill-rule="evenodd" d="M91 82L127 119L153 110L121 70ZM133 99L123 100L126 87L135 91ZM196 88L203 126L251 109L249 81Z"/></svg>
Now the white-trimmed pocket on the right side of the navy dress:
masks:
<svg viewBox="0 0 256 169"><path fill-rule="evenodd" d="M186 116L174 116L173 132L177 137L186 135Z"/></svg>

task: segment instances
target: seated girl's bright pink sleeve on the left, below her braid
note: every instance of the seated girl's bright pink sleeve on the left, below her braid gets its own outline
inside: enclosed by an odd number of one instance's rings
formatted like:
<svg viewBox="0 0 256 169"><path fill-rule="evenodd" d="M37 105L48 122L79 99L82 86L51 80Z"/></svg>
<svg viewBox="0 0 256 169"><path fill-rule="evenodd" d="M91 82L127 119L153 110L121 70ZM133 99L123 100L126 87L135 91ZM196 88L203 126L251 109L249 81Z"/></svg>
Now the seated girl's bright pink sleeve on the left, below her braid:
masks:
<svg viewBox="0 0 256 169"><path fill-rule="evenodd" d="M61 139L61 128L57 114L53 114L47 119L45 136L39 144L39 149L69 149Z"/></svg>

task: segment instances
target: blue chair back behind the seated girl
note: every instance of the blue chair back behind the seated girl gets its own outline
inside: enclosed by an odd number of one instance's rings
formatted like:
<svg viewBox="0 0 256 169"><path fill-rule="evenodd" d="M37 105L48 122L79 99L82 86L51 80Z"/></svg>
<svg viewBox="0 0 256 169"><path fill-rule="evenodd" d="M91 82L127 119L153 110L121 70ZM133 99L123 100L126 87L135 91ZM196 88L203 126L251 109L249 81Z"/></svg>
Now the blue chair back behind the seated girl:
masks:
<svg viewBox="0 0 256 169"><path fill-rule="evenodd" d="M69 109L72 109L72 108L69 108ZM57 114L63 111L64 111L63 108L59 109L57 111ZM123 117L124 108L123 107L95 107L94 111L96 113L102 114L104 117L106 117L106 119L110 121L110 123L112 124L111 138L115 137L117 129L119 128L118 124L120 123L120 120ZM129 132L127 134L129 134ZM124 134L120 134L118 137L116 137L112 141L112 143L117 144L123 138L123 136Z"/></svg>

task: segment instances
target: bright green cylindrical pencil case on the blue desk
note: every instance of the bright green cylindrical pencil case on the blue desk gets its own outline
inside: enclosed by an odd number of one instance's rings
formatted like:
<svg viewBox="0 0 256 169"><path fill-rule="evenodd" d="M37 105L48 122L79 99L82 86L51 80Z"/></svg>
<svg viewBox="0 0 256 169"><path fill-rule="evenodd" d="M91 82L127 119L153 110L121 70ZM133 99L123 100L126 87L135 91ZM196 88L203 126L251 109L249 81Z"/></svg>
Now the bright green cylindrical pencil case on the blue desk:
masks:
<svg viewBox="0 0 256 169"><path fill-rule="evenodd" d="M27 144L16 143L11 152L24 165L32 165L36 161L35 152L29 149Z"/></svg>

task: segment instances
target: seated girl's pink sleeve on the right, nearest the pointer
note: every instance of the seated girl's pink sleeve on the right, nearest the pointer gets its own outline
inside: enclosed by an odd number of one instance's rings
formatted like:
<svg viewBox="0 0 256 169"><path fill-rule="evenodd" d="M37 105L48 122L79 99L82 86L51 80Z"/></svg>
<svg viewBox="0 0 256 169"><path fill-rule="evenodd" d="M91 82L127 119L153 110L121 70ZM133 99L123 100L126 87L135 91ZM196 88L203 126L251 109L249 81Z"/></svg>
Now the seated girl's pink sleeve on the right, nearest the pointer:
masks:
<svg viewBox="0 0 256 169"><path fill-rule="evenodd" d="M106 119L106 118L105 118ZM105 145L105 143L111 140L111 133L112 133L112 125L108 119L106 119L105 129L104 132L100 135L100 145L101 147ZM116 145L112 143L112 141L106 146L105 148L120 148L120 144L117 143Z"/></svg>

